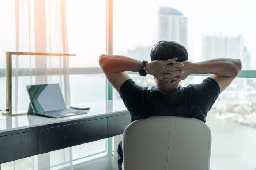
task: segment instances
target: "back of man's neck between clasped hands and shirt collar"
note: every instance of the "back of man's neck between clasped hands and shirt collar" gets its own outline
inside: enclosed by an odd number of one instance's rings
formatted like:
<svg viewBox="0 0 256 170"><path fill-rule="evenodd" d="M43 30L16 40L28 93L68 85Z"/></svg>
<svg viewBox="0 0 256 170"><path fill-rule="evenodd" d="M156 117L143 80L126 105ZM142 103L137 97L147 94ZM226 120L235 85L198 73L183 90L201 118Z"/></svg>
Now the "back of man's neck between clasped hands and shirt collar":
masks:
<svg viewBox="0 0 256 170"><path fill-rule="evenodd" d="M180 82L172 84L172 83L165 82L163 80L155 79L155 84L156 84L156 87L164 93L174 93L179 90Z"/></svg>

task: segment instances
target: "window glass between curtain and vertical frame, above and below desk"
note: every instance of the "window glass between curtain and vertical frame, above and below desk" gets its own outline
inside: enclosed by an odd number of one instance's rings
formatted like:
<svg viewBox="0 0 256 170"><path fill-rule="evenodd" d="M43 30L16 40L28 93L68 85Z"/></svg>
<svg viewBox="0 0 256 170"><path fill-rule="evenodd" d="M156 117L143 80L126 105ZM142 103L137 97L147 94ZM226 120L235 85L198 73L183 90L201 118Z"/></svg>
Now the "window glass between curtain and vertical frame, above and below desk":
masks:
<svg viewBox="0 0 256 170"><path fill-rule="evenodd" d="M67 0L67 29L71 68L99 67L106 52L106 1ZM78 70L79 72L79 70ZM71 104L106 99L104 74L70 75ZM106 151L106 139L72 147L73 160Z"/></svg>

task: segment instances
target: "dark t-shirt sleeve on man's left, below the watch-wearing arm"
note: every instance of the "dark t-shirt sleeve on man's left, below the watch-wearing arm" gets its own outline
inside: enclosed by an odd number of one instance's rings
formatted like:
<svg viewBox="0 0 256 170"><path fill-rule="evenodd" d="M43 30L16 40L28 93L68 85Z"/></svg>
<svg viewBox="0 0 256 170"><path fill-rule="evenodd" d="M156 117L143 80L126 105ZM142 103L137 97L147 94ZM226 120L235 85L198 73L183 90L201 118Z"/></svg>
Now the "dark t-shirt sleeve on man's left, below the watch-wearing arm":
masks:
<svg viewBox="0 0 256 170"><path fill-rule="evenodd" d="M139 86L132 79L126 80L121 85L119 94L130 114L142 109L145 90L147 89Z"/></svg>

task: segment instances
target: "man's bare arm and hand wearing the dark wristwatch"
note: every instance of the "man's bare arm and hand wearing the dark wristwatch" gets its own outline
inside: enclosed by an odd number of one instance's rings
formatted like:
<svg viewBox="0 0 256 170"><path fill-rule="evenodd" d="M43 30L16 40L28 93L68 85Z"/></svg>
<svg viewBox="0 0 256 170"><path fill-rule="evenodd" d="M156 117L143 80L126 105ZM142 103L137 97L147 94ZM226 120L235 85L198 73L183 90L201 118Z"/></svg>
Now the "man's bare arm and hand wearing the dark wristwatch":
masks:
<svg viewBox="0 0 256 170"><path fill-rule="evenodd" d="M126 80L130 79L130 76L125 73L125 71L138 72L141 63L142 61L140 60L120 55L102 54L99 57L99 65L106 75L106 78L118 92L121 85ZM155 60L146 64L147 73L155 76L158 79L162 79L161 73L165 71L162 67L169 63L174 63L172 64L172 67L182 67L184 65L175 62L174 59L169 59L166 61ZM168 76L168 78L172 80L180 80L181 78L177 77L177 75L181 72L182 70L172 71L172 75Z"/></svg>

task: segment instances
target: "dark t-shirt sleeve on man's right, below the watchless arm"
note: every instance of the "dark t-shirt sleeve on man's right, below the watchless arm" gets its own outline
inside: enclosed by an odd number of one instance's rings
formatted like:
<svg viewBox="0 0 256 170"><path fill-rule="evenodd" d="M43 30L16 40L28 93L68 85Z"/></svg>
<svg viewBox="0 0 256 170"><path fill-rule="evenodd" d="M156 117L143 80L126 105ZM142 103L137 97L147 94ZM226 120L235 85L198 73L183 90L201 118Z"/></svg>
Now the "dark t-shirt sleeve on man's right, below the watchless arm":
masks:
<svg viewBox="0 0 256 170"><path fill-rule="evenodd" d="M208 112L220 94L219 84L212 78L207 77L200 84L195 84L197 89L197 102L201 109Z"/></svg>

